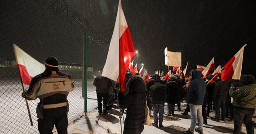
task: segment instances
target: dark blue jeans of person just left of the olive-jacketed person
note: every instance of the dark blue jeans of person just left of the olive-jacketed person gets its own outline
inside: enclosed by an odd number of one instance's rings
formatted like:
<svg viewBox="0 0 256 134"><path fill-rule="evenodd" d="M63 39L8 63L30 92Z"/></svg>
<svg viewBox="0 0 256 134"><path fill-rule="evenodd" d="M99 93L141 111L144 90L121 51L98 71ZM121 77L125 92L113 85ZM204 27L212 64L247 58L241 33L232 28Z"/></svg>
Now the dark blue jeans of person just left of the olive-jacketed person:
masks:
<svg viewBox="0 0 256 134"><path fill-rule="evenodd" d="M215 119L216 120L220 120L220 116L222 120L226 118L225 102L226 100L216 100L215 102Z"/></svg>

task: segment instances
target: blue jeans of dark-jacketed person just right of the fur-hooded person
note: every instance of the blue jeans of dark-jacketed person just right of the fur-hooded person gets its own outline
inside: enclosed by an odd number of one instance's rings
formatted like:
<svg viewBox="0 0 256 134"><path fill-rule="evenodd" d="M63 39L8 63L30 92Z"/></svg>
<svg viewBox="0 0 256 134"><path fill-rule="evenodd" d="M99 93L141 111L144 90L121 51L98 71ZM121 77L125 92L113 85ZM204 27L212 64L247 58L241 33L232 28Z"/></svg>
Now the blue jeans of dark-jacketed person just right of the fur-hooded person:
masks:
<svg viewBox="0 0 256 134"><path fill-rule="evenodd" d="M159 125L163 125L163 110L164 110L164 104L153 104L153 115L154 115L154 123ZM157 113L159 113L159 120Z"/></svg>

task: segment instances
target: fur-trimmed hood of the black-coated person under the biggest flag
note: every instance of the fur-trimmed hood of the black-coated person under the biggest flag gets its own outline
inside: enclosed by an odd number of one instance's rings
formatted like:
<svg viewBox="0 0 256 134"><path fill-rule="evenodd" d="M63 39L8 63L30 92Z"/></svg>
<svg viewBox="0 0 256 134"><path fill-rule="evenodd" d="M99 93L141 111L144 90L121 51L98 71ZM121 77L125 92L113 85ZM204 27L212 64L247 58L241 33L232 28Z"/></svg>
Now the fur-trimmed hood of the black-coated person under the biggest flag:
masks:
<svg viewBox="0 0 256 134"><path fill-rule="evenodd" d="M126 85L126 92L125 94L131 92L145 92L146 91L146 84L141 76L135 75L128 80Z"/></svg>

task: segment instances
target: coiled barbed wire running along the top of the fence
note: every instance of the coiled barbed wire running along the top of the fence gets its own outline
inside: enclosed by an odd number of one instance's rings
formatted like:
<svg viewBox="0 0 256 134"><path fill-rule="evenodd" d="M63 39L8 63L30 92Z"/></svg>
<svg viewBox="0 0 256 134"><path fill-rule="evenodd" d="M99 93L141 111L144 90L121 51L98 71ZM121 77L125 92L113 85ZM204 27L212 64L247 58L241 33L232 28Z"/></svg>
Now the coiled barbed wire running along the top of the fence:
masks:
<svg viewBox="0 0 256 134"><path fill-rule="evenodd" d="M84 27L88 29L88 38L92 39L98 45L108 50L109 41L94 29L84 17L75 12L64 0L35 0L36 3L44 5L50 12L55 12L71 25L84 32ZM82 25L80 25L78 20Z"/></svg>

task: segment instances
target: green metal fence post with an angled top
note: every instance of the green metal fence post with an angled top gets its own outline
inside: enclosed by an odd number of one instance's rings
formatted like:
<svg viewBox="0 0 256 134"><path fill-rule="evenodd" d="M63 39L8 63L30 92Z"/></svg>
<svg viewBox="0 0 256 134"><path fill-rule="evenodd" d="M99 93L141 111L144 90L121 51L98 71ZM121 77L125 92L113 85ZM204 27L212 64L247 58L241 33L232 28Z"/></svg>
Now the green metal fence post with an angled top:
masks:
<svg viewBox="0 0 256 134"><path fill-rule="evenodd" d="M75 19L80 25L84 27L84 113L87 113L87 33L88 29L77 19Z"/></svg>

